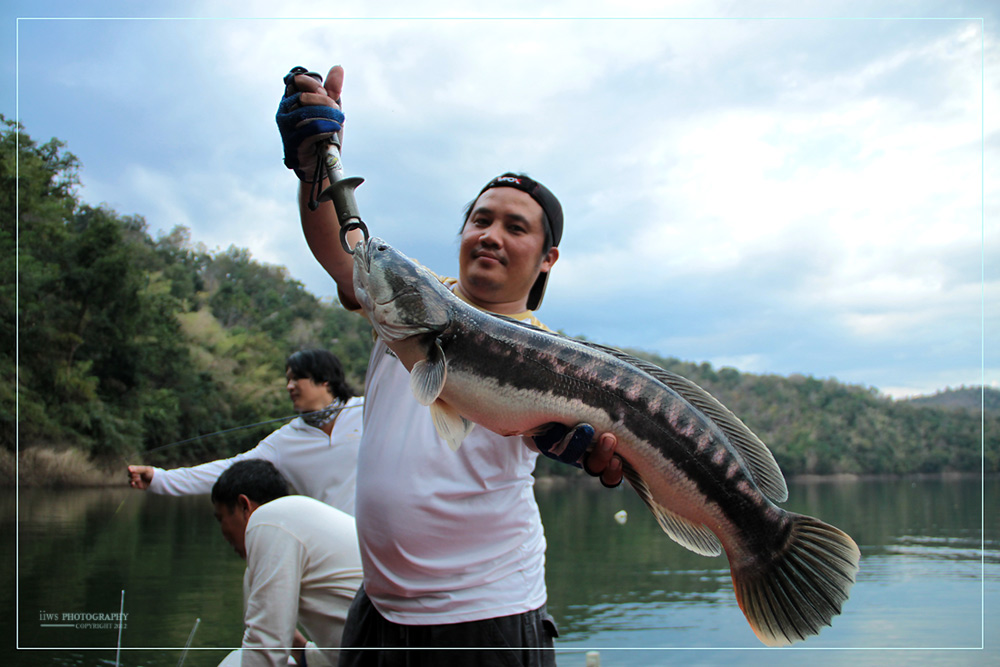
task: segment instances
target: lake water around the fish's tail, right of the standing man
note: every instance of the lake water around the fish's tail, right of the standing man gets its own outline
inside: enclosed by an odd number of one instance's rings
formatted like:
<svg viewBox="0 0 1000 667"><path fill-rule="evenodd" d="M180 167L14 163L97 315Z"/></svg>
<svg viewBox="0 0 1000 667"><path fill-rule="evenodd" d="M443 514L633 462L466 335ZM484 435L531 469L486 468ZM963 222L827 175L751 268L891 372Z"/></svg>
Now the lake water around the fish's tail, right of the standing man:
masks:
<svg viewBox="0 0 1000 667"><path fill-rule="evenodd" d="M803 646L980 645L984 571L986 579L1000 579L1000 535L988 526L983 551L981 526L984 507L1000 498L998 487L987 480L992 500L984 503L978 480L792 483L786 509L837 525L862 550L844 614ZM549 606L562 623L564 646L760 646L738 609L724 557L675 545L631 492L591 493L539 493ZM622 508L630 518L616 526L610 517ZM580 525L577 511L593 513L592 520ZM615 558L600 560L595 544L602 539L611 540ZM936 620L928 624L927 615Z"/></svg>

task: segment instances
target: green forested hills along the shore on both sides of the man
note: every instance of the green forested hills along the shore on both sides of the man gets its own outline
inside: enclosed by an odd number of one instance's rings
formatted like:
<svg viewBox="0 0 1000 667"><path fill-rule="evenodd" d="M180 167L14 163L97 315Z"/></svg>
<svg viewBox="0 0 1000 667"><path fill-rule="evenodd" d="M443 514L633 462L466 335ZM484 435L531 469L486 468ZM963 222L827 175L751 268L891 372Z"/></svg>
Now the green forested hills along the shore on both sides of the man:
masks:
<svg viewBox="0 0 1000 667"><path fill-rule="evenodd" d="M371 346L361 318L245 249L209 252L183 227L154 238L142 217L80 201L80 164L59 141L38 144L6 120L2 131L3 449L73 447L118 466L238 451L276 425L168 445L290 414L284 359L305 347L333 351L361 389ZM980 470L980 401L964 394L922 405L812 377L640 356L717 396L786 474ZM985 468L997 472L1000 393L986 394ZM540 474L573 470L540 465Z"/></svg>

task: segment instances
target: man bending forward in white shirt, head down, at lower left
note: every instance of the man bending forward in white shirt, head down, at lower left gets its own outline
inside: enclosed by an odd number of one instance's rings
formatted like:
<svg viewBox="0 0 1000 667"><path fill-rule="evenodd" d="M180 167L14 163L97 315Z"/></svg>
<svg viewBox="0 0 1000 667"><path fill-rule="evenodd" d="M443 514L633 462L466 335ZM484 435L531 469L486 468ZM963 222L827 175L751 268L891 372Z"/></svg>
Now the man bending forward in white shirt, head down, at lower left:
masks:
<svg viewBox="0 0 1000 667"><path fill-rule="evenodd" d="M337 664L348 608L361 585L354 519L305 496L262 459L238 461L212 487L223 537L247 562L244 667ZM301 624L307 642L297 630Z"/></svg>

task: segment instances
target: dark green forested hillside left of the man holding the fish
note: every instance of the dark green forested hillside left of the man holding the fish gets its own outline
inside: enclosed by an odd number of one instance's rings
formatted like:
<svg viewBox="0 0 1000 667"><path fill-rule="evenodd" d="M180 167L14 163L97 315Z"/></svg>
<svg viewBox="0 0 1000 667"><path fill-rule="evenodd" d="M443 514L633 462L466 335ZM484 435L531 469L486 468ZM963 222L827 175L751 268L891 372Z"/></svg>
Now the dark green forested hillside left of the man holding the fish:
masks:
<svg viewBox="0 0 1000 667"><path fill-rule="evenodd" d="M39 145L21 132L16 142L16 130L4 120L0 139L5 448L14 449L16 432L21 449L68 445L120 463L288 415L284 359L305 347L336 353L360 391L371 345L361 318L244 249L207 252L182 227L152 238L141 217L81 202L77 159L56 140ZM199 440L159 460L198 460L273 428Z"/></svg>

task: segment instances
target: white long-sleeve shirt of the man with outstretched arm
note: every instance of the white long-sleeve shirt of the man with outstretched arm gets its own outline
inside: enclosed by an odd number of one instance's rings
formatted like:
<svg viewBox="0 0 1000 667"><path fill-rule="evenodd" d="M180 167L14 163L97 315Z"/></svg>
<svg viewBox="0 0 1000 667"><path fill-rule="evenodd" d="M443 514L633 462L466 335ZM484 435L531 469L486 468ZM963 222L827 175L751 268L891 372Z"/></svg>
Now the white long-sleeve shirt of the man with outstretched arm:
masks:
<svg viewBox="0 0 1000 667"><path fill-rule="evenodd" d="M296 417L253 449L232 458L190 468L154 468L149 491L170 496L211 493L215 480L232 464L264 459L274 464L296 493L354 516L363 403L360 397L350 399L330 435Z"/></svg>

